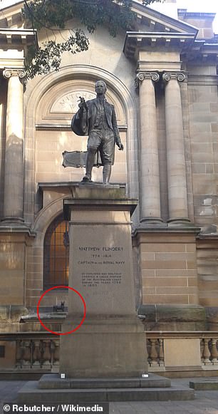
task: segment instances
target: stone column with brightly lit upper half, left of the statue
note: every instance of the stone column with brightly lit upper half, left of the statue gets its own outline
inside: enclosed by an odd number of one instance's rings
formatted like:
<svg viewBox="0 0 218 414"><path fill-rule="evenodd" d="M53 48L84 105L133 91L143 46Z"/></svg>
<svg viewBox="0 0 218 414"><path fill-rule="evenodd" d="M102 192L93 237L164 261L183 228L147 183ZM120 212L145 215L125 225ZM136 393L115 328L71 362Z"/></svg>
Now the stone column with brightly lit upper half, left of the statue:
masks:
<svg viewBox="0 0 218 414"><path fill-rule="evenodd" d="M3 72L9 80L6 108L4 220L23 222L24 194L24 86L23 69Z"/></svg>

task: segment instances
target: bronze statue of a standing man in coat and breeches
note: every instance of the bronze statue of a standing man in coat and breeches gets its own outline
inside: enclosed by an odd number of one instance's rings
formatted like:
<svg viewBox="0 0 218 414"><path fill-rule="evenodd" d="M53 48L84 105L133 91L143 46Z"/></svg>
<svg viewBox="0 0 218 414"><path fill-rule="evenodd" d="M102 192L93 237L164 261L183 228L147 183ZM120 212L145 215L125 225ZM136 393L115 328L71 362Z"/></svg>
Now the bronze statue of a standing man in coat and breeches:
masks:
<svg viewBox="0 0 218 414"><path fill-rule="evenodd" d="M97 97L86 102L81 98L79 110L72 119L73 132L77 135L88 135L85 176L82 182L92 182L92 170L97 154L100 155L103 165L103 184L108 184L111 165L114 162L115 144L123 151L115 108L105 99L106 90L105 82L97 81L95 83Z"/></svg>

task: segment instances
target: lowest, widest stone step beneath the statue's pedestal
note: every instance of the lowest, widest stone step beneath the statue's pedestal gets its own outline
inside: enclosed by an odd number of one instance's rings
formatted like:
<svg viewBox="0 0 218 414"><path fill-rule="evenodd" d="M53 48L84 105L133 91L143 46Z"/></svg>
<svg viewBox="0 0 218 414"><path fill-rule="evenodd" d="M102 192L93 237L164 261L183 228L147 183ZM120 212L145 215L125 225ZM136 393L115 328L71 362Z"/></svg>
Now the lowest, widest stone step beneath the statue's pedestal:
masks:
<svg viewBox="0 0 218 414"><path fill-rule="evenodd" d="M29 381L18 393L19 403L85 403L112 401L192 400L194 390L172 385L170 388L87 388L39 389L37 381Z"/></svg>

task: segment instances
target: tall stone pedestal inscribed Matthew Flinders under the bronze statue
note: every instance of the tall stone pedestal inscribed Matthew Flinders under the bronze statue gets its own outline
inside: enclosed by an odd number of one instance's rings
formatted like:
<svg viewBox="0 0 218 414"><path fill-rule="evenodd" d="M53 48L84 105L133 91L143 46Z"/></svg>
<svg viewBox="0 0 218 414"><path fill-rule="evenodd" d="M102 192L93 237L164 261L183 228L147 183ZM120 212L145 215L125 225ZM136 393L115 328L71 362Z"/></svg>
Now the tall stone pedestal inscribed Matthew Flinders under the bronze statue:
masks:
<svg viewBox="0 0 218 414"><path fill-rule="evenodd" d="M60 373L66 378L141 376L147 355L135 312L130 222L137 202L120 186L78 185L72 193L64 200L71 220L69 286L83 296L87 315L81 328L61 336ZM81 298L69 291L63 332L80 323L83 311Z"/></svg>

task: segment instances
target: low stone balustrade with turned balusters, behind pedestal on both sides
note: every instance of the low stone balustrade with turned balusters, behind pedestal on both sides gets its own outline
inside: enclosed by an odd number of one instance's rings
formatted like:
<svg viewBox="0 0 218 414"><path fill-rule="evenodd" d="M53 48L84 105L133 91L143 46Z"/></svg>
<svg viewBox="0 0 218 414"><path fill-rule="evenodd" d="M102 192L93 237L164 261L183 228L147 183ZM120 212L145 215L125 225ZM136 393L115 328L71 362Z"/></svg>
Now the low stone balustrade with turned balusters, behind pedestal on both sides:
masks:
<svg viewBox="0 0 218 414"><path fill-rule="evenodd" d="M199 343L200 366L203 371L217 370L217 331L147 331L147 362L149 372L170 371L166 365L166 350L169 340L197 340ZM0 333L0 343L13 342L16 349L15 364L10 369L32 372L58 372L59 337L46 333ZM5 345L6 346L6 345ZM174 367L176 368L176 367ZM181 368L181 366L180 366ZM1 371L5 371L2 370ZM176 371L174 369L174 371Z"/></svg>

